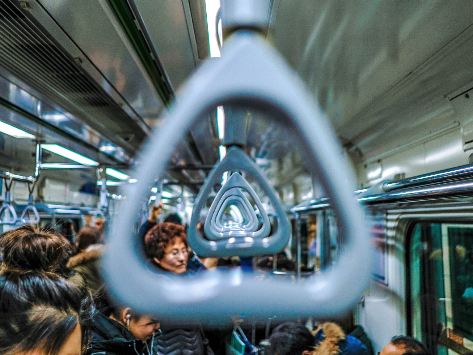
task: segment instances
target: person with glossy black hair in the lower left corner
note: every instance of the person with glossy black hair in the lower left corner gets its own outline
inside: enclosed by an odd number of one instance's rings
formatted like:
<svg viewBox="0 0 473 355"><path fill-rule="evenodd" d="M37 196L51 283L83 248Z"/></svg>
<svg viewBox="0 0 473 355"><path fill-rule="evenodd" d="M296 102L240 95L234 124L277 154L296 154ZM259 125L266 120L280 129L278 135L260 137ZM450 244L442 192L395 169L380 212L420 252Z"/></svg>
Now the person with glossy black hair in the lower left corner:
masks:
<svg viewBox="0 0 473 355"><path fill-rule="evenodd" d="M89 343L90 297L52 272L0 274L0 354L81 355Z"/></svg>

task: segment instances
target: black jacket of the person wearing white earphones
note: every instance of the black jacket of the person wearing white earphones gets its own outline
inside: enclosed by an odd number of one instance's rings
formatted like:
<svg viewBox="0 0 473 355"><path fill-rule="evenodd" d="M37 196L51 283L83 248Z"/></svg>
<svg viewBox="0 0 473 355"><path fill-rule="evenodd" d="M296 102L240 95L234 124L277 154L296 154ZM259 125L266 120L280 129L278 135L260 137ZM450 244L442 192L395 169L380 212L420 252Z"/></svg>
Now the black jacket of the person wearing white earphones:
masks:
<svg viewBox="0 0 473 355"><path fill-rule="evenodd" d="M149 355L145 343L102 312L96 312L94 315L91 330L92 339L87 355Z"/></svg>

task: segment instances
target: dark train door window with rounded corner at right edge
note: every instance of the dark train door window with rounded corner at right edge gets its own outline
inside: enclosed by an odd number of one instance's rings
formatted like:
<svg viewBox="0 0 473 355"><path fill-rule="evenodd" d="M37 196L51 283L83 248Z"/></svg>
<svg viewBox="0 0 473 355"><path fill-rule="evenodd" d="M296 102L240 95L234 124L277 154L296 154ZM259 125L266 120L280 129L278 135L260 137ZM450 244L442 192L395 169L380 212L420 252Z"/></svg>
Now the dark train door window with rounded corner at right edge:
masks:
<svg viewBox="0 0 473 355"><path fill-rule="evenodd" d="M473 350L473 224L417 223L408 259L412 336L434 355Z"/></svg>

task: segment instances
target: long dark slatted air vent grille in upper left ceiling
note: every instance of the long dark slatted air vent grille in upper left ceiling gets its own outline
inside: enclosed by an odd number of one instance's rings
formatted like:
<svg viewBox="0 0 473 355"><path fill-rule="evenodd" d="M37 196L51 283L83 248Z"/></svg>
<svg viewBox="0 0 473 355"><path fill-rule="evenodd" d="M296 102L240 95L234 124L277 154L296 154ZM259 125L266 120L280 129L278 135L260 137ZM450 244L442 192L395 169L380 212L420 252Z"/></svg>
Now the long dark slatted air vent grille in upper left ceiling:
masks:
<svg viewBox="0 0 473 355"><path fill-rule="evenodd" d="M117 103L17 0L0 0L0 65L127 150L146 138ZM127 132L133 139L118 137Z"/></svg>

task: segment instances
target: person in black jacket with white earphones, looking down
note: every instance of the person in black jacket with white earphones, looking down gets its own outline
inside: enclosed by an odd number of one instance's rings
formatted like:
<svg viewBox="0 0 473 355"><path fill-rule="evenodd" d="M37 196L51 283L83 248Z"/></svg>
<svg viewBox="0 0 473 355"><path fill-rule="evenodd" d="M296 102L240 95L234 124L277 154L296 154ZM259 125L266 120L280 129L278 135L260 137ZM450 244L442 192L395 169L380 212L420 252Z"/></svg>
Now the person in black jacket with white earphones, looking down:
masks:
<svg viewBox="0 0 473 355"><path fill-rule="evenodd" d="M101 291L96 296L96 308L87 355L160 355L155 343L157 319L116 306Z"/></svg>

